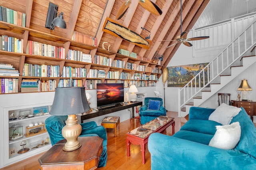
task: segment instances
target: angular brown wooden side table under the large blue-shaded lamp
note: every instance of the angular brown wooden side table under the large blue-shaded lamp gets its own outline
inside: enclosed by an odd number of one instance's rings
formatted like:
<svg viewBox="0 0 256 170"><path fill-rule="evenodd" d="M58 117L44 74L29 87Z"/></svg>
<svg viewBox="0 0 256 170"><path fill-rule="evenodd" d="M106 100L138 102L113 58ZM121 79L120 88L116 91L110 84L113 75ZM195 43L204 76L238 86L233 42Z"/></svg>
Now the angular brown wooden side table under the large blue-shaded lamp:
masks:
<svg viewBox="0 0 256 170"><path fill-rule="evenodd" d="M100 137L78 137L81 147L73 151L62 148L66 139L52 146L38 161L41 170L94 170L102 154L103 139Z"/></svg>

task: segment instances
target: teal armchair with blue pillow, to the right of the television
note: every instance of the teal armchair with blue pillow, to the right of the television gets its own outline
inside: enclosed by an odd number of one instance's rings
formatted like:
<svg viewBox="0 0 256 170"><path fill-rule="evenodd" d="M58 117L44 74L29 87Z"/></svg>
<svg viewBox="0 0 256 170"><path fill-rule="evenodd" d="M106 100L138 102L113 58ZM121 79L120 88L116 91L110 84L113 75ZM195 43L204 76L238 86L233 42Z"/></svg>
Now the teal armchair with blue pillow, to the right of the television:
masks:
<svg viewBox="0 0 256 170"><path fill-rule="evenodd" d="M144 105L140 107L140 123L143 125L161 115L166 116L162 98L145 98Z"/></svg>

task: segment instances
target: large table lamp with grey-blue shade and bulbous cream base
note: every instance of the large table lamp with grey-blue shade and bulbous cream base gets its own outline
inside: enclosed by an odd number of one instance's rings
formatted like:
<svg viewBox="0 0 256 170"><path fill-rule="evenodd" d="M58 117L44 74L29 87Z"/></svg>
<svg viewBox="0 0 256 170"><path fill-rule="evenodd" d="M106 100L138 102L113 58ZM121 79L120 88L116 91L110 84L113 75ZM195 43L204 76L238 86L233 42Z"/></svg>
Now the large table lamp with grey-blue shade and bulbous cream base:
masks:
<svg viewBox="0 0 256 170"><path fill-rule="evenodd" d="M51 115L68 115L66 126L62 128L62 136L67 140L63 150L72 151L81 147L77 140L82 131L76 114L89 111L91 108L86 99L84 87L56 88Z"/></svg>

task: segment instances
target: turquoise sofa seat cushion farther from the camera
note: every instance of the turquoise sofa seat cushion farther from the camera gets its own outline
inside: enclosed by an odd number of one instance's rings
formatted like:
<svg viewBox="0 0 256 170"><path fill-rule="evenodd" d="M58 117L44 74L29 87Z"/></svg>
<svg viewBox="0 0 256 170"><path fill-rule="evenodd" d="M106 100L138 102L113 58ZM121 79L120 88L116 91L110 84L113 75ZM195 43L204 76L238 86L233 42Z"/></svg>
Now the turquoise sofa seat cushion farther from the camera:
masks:
<svg viewBox="0 0 256 170"><path fill-rule="evenodd" d="M190 119L180 128L180 130L214 135L216 132L216 125L221 124L210 120Z"/></svg>

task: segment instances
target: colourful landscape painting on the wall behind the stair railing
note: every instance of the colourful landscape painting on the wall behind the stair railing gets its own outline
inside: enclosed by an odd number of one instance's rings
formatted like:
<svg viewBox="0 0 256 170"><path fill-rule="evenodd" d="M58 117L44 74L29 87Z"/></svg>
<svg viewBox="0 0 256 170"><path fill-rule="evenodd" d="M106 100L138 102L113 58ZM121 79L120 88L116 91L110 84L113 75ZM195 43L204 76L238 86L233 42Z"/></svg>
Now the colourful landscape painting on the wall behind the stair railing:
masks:
<svg viewBox="0 0 256 170"><path fill-rule="evenodd" d="M182 66L167 67L168 68L167 87L184 87L207 64L208 63L201 63L201 64L188 64L188 65L182 65ZM208 74L207 72L208 70L206 70L204 74ZM196 83L198 84L199 82L197 81Z"/></svg>

